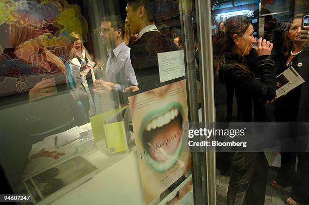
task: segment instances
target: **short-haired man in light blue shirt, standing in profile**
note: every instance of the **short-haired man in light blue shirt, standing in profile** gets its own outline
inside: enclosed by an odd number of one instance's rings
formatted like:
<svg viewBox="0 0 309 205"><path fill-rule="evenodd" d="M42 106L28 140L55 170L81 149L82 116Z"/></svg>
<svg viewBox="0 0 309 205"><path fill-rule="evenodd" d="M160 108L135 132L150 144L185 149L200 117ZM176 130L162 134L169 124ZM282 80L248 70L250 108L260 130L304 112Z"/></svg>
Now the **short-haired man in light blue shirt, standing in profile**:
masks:
<svg viewBox="0 0 309 205"><path fill-rule="evenodd" d="M130 59L130 48L124 42L124 31L125 24L120 17L112 15L102 19L100 36L104 45L109 48L109 59L106 66L105 81L96 81L94 83L106 88L105 90L96 90L97 93L106 96L111 94L113 100L118 102L121 101L119 97L122 96L121 93L126 88L137 86ZM109 104L117 108L115 101ZM108 103L105 105L109 107ZM111 110L111 107L104 110Z"/></svg>

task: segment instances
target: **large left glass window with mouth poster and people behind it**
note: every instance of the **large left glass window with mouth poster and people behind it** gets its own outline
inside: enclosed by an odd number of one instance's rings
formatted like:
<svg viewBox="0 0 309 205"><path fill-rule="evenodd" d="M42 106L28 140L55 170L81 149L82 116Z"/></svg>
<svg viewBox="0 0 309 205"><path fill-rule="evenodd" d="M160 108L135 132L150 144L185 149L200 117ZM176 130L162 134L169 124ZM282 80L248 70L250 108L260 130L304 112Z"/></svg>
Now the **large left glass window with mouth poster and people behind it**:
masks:
<svg viewBox="0 0 309 205"><path fill-rule="evenodd" d="M0 8L0 161L13 193L34 204L193 204L194 1Z"/></svg>

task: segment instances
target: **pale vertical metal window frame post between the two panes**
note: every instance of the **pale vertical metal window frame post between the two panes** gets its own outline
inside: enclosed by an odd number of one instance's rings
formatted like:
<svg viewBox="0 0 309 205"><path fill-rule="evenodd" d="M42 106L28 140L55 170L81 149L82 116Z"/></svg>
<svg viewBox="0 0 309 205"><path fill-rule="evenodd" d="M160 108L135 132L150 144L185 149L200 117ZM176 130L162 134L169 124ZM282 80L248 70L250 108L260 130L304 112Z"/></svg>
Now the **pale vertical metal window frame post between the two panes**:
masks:
<svg viewBox="0 0 309 205"><path fill-rule="evenodd" d="M195 11L199 68L202 78L202 120L203 122L215 122L211 1L196 0ZM216 152L205 150L203 153L205 159L204 170L207 174L205 204L216 205Z"/></svg>

